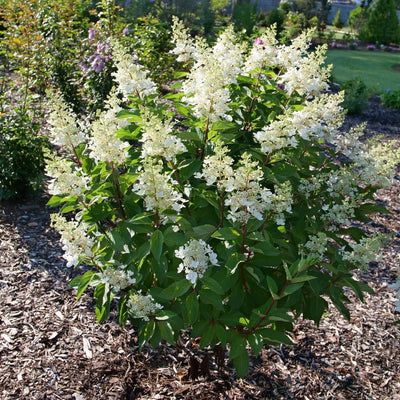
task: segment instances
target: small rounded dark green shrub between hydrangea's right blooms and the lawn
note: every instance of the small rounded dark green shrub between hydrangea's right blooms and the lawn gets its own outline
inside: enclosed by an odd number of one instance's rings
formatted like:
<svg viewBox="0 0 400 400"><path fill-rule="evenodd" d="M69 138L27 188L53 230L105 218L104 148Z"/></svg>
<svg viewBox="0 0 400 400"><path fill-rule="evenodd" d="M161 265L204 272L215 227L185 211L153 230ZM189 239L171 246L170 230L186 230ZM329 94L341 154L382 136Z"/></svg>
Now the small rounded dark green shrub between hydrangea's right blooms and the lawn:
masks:
<svg viewBox="0 0 400 400"><path fill-rule="evenodd" d="M361 78L345 81L340 87L345 91L343 107L348 110L349 114L358 114L367 108L368 99L373 91Z"/></svg>

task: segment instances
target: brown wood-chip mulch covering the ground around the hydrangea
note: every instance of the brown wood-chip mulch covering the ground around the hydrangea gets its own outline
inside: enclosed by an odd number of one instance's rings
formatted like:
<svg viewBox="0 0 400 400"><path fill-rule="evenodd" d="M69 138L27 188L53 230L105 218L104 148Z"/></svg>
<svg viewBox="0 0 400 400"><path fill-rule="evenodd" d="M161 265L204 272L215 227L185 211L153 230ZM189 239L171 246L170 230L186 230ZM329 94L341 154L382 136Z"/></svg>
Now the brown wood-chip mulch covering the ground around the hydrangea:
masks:
<svg viewBox="0 0 400 400"><path fill-rule="evenodd" d="M366 136L400 140L400 113L370 102L347 124L368 121ZM245 379L213 351L183 339L138 351L135 331L116 318L98 324L93 300L68 282L58 236L45 200L0 203L0 398L9 399L400 399L400 325L390 285L400 264L400 176L376 201L369 232L389 234L383 259L359 274L375 295L354 299L351 321L334 307L319 328L299 321L294 346L266 346L251 358ZM189 379L189 367L210 374ZM205 368L207 370L207 368ZM193 375L193 374L192 374Z"/></svg>

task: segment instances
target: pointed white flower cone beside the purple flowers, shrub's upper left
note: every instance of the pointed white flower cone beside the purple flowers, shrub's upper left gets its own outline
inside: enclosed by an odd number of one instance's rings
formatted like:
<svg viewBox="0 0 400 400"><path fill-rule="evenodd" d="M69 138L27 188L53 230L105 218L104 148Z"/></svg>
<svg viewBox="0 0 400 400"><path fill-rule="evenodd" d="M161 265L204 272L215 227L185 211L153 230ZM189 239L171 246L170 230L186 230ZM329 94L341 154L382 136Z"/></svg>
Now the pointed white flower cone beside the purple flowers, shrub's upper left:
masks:
<svg viewBox="0 0 400 400"><path fill-rule="evenodd" d="M119 44L113 44L113 59L117 71L113 73L118 91L127 100L130 94L145 97L157 91L156 84L147 77L148 71L138 63L135 56L126 52Z"/></svg>

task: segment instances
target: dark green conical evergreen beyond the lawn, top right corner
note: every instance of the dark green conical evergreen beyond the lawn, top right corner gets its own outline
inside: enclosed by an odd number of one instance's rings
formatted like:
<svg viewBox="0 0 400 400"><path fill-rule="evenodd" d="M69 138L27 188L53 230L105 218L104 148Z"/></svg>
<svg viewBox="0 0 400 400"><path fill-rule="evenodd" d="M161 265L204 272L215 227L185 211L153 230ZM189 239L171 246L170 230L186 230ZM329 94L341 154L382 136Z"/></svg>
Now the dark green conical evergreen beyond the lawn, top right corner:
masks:
<svg viewBox="0 0 400 400"><path fill-rule="evenodd" d="M400 41L399 18L394 0L377 0L371 6L368 19L360 30L360 38L379 44Z"/></svg>

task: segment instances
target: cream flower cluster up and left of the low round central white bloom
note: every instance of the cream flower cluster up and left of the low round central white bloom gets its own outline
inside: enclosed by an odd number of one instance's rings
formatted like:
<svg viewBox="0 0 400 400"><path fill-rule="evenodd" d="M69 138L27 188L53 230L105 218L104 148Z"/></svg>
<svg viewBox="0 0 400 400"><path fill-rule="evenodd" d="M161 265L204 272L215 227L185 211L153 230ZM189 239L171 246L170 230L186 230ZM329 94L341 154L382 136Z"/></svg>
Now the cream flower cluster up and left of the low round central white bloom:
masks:
<svg viewBox="0 0 400 400"><path fill-rule="evenodd" d="M162 212L173 209L179 214L187 200L172 187L175 182L169 174L162 172L162 169L162 163L155 163L149 158L144 159L143 171L132 190L143 196L147 211Z"/></svg>

